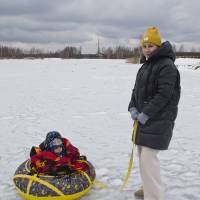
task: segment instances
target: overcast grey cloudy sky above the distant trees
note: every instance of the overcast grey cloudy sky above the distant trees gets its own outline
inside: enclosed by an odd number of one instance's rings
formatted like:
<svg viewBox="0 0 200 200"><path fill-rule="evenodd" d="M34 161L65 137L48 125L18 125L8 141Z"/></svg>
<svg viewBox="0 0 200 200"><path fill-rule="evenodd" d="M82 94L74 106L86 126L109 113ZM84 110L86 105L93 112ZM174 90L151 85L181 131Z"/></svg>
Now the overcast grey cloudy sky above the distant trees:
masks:
<svg viewBox="0 0 200 200"><path fill-rule="evenodd" d="M0 0L0 43L83 52L116 45L135 47L148 26L163 41L200 49L199 0Z"/></svg>

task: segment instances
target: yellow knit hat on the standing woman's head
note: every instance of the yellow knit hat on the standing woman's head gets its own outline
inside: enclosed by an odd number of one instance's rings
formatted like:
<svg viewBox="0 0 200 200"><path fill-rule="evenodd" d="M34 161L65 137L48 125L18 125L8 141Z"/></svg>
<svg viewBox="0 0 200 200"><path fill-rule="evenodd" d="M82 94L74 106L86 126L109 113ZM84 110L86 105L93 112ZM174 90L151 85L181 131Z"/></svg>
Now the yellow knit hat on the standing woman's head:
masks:
<svg viewBox="0 0 200 200"><path fill-rule="evenodd" d="M144 43L152 43L157 46L161 46L161 37L158 29L155 26L149 27L141 40L141 44L143 45Z"/></svg>

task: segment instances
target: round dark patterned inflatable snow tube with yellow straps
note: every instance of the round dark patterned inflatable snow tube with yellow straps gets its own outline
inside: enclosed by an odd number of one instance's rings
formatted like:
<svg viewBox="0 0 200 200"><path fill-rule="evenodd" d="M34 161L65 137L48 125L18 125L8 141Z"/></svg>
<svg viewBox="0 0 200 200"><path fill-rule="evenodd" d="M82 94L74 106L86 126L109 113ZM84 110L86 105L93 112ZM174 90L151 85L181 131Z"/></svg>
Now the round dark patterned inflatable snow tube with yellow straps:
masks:
<svg viewBox="0 0 200 200"><path fill-rule="evenodd" d="M16 170L13 181L16 190L27 200L74 200L91 190L95 169L87 161L89 171L62 176L30 175L30 160Z"/></svg>

